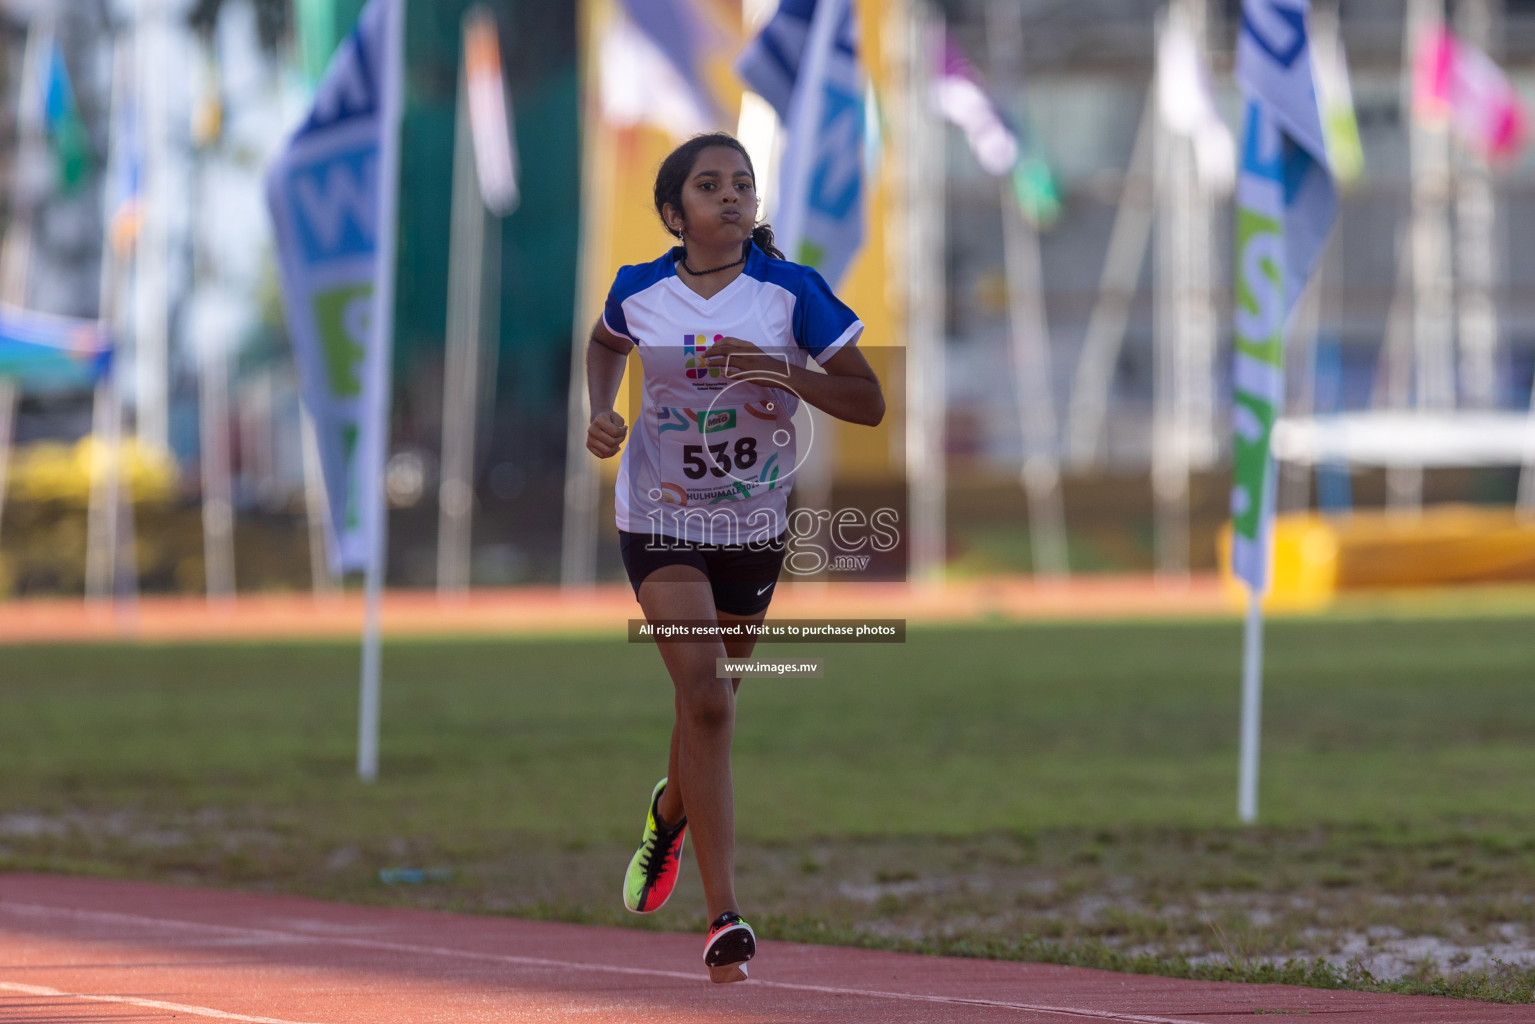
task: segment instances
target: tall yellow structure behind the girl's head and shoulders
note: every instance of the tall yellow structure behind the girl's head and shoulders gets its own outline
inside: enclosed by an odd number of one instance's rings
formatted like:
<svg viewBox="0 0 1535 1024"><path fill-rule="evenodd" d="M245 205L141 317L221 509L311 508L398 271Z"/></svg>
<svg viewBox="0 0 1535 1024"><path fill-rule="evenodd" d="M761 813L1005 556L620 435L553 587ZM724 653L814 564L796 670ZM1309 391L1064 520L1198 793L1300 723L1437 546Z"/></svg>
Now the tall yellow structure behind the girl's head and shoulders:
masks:
<svg viewBox="0 0 1535 1024"><path fill-rule="evenodd" d="M741 107L741 83L735 77L734 63L749 41L743 21L741 0L694 0L700 15L718 32L723 43L705 68L714 88L715 101L728 118L720 127L735 134ZM890 31L890 5L880 0L855 0L858 12L860 48L876 97L895 95L892 61L887 58L884 34ZM600 74L597 61L600 40L609 20L619 8L617 0L583 0L580 8L582 68L582 252L579 290L582 309L580 324L591 324L602 315L608 286L620 266L649 263L669 246L675 244L655 216L652 189L655 170L677 141L666 132L651 127L619 127L603 120L600 97ZM883 134L883 132L881 132ZM889 415L876 428L849 427L837 431L835 474L840 481L892 481L900 479L901 468L893 453L900 451L903 422L900 396L904 381L893 379L904 373L904 364L892 348L904 347L904 301L900 287L887 269L892 266L889 223L892 213L892 177L895 147L890 140L881 147L878 167L870 169L866 197L864 244L847 270L847 278L837 289L864 322L860 342L869 364L884 384ZM774 172L775 173L775 172ZM751 341L751 339L748 339ZM639 356L631 355L629 372L637 372ZM631 379L626 375L614 402L616 411L632 424L628 408ZM603 459L602 473L611 481L617 474L619 461Z"/></svg>

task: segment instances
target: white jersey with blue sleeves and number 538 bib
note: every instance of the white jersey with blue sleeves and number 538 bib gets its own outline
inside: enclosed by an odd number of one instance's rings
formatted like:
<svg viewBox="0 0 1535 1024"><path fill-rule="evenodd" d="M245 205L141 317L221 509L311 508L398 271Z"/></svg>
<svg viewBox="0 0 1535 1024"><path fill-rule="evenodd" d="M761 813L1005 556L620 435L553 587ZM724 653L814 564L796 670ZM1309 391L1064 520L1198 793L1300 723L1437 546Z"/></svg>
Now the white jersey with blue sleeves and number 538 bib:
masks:
<svg viewBox="0 0 1535 1024"><path fill-rule="evenodd" d="M787 364L826 362L863 321L812 267L755 244L712 298L677 276L675 250L622 267L602 321L640 352L645 393L619 462L619 530L697 543L749 543L784 531L797 465L800 399L771 381L731 381L701 365L740 338Z"/></svg>

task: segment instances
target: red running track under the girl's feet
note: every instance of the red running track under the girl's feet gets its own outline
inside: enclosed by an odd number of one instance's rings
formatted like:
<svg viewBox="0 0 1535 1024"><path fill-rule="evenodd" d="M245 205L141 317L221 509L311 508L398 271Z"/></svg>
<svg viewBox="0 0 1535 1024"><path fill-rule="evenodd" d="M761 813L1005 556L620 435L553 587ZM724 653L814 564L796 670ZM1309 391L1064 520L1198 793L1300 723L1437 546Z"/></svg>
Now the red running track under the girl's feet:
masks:
<svg viewBox="0 0 1535 1024"><path fill-rule="evenodd" d="M75 1024L1535 1022L1535 1007L763 943L709 984L698 935L0 875L0 1021Z"/></svg>

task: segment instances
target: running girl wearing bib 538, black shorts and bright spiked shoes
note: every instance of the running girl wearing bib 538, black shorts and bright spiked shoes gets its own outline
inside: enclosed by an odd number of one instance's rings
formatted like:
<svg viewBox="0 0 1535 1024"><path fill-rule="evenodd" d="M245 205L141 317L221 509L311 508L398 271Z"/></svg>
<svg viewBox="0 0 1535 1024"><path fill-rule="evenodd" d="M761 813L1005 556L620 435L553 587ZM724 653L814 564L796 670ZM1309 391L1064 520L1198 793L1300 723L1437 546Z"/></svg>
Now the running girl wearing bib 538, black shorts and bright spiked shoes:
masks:
<svg viewBox="0 0 1535 1024"><path fill-rule="evenodd" d="M763 620L783 567L798 402L875 425L884 396L857 348L863 322L757 224L755 172L735 138L698 135L666 157L655 212L680 244L620 269L608 292L586 347L586 448L611 457L629 433L612 402L639 345L645 391L616 494L623 565L649 622L740 628ZM657 646L675 722L623 901L635 913L666 903L691 827L711 920L703 960L714 981L741 981L757 953L735 901L731 735L741 680L717 679L715 659L748 657L754 640Z"/></svg>

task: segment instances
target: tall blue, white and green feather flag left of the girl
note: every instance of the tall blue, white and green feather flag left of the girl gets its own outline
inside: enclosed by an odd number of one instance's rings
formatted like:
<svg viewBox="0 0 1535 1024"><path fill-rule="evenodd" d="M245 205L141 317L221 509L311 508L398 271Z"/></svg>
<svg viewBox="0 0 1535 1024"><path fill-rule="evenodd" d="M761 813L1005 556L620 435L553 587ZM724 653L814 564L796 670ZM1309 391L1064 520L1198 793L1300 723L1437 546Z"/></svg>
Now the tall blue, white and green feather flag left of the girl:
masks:
<svg viewBox="0 0 1535 1024"><path fill-rule="evenodd" d="M299 390L330 499L338 573L382 536L399 181L402 0L368 0L309 118L267 172Z"/></svg>

